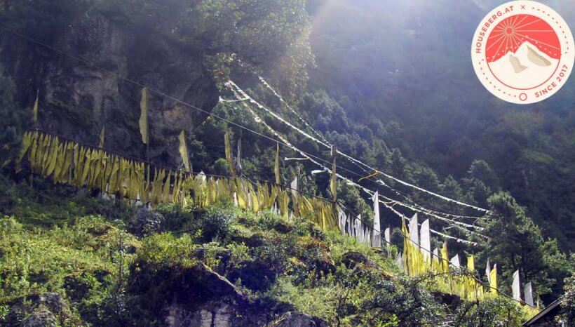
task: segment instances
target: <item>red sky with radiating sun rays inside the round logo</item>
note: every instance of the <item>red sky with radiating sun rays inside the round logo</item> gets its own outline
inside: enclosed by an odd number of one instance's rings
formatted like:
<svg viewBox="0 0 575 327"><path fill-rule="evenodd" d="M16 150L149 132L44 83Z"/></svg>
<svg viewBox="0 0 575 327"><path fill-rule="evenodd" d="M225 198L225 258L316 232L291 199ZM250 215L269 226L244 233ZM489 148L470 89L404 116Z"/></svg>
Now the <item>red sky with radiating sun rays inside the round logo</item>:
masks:
<svg viewBox="0 0 575 327"><path fill-rule="evenodd" d="M561 57L560 41L553 27L534 15L522 14L502 20L489 34L485 51L487 62L497 61L509 52L517 52L525 42L550 58Z"/></svg>

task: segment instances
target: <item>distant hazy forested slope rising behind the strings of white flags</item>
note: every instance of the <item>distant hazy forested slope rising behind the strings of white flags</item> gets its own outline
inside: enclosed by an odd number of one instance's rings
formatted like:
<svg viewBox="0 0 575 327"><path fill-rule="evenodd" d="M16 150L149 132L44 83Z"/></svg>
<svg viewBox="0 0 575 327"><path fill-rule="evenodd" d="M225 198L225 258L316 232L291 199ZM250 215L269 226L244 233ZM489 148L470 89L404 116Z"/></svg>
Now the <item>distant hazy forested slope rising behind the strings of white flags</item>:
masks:
<svg viewBox="0 0 575 327"><path fill-rule="evenodd" d="M489 187L509 190L573 251L575 81L529 106L481 86L471 38L500 2L313 1L310 84L408 161L440 175L464 178L473 160L487 161L496 178ZM575 26L572 4L543 2Z"/></svg>

